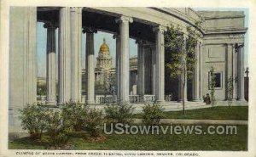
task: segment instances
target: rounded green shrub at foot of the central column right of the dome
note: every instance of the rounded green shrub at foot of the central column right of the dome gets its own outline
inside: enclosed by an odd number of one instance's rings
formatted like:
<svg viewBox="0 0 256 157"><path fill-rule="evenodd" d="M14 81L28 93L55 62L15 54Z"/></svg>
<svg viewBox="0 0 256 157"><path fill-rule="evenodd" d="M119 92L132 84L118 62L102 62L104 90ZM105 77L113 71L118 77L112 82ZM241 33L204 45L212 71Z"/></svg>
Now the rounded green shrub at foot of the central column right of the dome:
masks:
<svg viewBox="0 0 256 157"><path fill-rule="evenodd" d="M132 122L133 110L131 104L110 104L105 107L105 118L108 122L129 124Z"/></svg>

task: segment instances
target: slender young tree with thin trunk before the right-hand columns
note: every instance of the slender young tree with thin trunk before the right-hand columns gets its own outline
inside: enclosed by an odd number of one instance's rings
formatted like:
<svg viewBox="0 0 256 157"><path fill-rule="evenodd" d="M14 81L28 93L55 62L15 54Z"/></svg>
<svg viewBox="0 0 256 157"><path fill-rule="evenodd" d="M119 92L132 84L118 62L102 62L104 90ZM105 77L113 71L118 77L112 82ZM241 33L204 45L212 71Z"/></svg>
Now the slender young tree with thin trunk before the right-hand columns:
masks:
<svg viewBox="0 0 256 157"><path fill-rule="evenodd" d="M200 26L201 23L197 22L196 25ZM185 114L185 87L186 78L193 77L195 70L195 47L198 42L200 34L192 29L191 26L187 27L189 36L187 38L182 33L179 27L167 28L165 32L165 52L166 56L166 68L170 70L170 76L177 78L180 76L181 86L183 89L183 115Z"/></svg>

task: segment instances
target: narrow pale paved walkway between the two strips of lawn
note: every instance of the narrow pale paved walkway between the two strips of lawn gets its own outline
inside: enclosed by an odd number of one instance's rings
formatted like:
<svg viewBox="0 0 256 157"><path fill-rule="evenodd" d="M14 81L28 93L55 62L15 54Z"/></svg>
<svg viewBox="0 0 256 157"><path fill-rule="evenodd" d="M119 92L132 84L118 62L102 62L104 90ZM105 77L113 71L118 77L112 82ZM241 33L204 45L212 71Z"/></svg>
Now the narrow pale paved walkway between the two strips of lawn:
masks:
<svg viewBox="0 0 256 157"><path fill-rule="evenodd" d="M142 123L143 119L134 119L135 123ZM190 119L162 119L163 124L208 124L208 125L247 125L248 121L240 120L190 120Z"/></svg>

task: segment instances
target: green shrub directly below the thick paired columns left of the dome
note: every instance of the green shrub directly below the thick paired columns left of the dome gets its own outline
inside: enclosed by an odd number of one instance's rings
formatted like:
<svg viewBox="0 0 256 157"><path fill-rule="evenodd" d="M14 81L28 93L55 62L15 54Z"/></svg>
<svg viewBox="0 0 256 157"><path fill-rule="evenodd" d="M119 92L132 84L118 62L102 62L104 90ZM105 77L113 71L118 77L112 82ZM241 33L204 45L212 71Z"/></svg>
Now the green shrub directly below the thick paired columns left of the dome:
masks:
<svg viewBox="0 0 256 157"><path fill-rule="evenodd" d="M87 115L88 106L79 102L68 102L62 106L63 120L70 122L66 126L73 126L75 131L81 131Z"/></svg>

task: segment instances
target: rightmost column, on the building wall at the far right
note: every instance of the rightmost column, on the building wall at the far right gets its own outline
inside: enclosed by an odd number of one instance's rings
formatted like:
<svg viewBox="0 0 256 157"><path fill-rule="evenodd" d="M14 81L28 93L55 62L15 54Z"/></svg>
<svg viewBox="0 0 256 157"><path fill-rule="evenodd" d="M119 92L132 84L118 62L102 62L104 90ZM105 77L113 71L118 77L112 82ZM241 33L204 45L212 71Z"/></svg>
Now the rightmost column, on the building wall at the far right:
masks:
<svg viewBox="0 0 256 157"><path fill-rule="evenodd" d="M239 101L245 101L244 98L244 46L238 46L238 59L237 59L237 85L238 85L238 98Z"/></svg>

